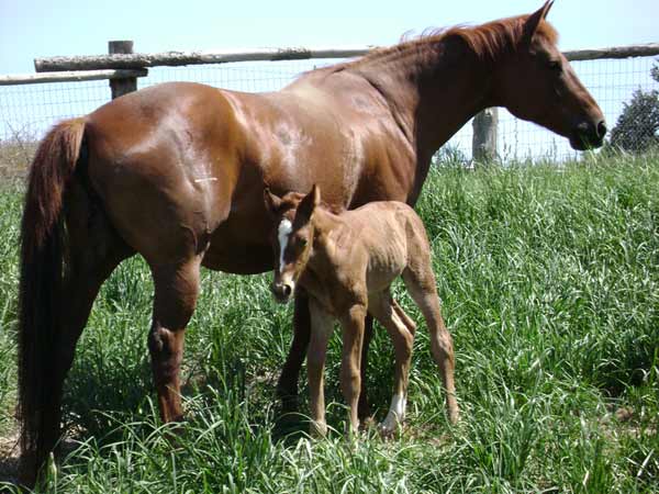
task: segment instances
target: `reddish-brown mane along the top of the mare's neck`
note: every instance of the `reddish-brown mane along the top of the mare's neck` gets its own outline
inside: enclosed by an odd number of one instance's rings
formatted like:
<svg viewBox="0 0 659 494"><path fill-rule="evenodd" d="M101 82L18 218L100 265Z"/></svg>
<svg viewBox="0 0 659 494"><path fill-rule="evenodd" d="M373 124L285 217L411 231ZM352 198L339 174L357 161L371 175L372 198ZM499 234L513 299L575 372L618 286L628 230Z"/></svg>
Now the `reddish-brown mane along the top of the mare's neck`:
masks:
<svg viewBox="0 0 659 494"><path fill-rule="evenodd" d="M424 52L432 52L437 43L450 38L462 40L480 59L483 61L493 61L499 55L517 49L524 40L524 25L528 18L529 15L517 15L476 26L457 25L434 30L422 34L416 40L403 41L391 47L375 49L356 60L331 66L325 70L333 72L356 68L367 63L390 59L410 52L423 55ZM540 36L552 45L558 42L557 31L544 20L540 21L535 36Z"/></svg>

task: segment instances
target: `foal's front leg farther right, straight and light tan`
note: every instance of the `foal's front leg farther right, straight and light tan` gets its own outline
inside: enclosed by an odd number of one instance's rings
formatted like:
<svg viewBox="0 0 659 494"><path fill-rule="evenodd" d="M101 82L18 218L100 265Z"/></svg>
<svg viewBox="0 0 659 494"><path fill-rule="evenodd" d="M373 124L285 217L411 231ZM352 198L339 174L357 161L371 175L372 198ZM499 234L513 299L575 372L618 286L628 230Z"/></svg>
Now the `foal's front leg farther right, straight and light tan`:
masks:
<svg viewBox="0 0 659 494"><path fill-rule="evenodd" d="M349 407L350 433L356 433L359 428L357 406L361 388L361 346L366 314L364 305L355 304L347 311L347 314L343 314L340 317L343 329L340 389Z"/></svg>

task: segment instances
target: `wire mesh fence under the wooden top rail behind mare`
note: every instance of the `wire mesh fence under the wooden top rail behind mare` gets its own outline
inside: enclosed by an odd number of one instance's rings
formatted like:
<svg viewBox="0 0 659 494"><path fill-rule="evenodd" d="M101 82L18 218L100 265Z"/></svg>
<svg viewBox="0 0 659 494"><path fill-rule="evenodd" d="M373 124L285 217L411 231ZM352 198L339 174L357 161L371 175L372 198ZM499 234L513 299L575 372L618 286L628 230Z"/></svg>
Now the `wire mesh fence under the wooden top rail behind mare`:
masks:
<svg viewBox="0 0 659 494"><path fill-rule="evenodd" d="M196 81L219 88L261 92L281 89L300 74L339 59L242 61L222 65L158 67L138 79L138 88L166 81ZM651 77L657 57L572 61L591 91L608 127L608 139L630 151L657 144L659 133L659 81ZM659 77L657 77L659 79ZM34 142L59 120L93 111L110 100L108 81L41 83L0 87L0 144L16 139ZM627 110L625 110L627 109ZM616 123L622 121L624 132ZM472 127L465 125L444 147L461 159L471 158ZM503 161L578 158L567 139L535 124L499 112L498 153Z"/></svg>

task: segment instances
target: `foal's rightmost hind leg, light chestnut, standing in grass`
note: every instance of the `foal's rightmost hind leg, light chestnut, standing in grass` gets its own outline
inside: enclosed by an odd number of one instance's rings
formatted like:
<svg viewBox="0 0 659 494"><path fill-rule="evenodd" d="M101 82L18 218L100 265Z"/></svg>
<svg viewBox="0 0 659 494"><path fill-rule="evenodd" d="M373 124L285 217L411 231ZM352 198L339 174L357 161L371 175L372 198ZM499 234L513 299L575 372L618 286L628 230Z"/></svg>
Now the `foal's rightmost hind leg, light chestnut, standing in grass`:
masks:
<svg viewBox="0 0 659 494"><path fill-rule="evenodd" d="M409 266L403 271L403 280L410 295L418 305L428 326L431 336L431 352L442 374L442 381L446 392L446 407L448 419L451 424L458 422L458 402L456 401L456 386L454 381L454 349L453 338L446 329L435 276L429 263L428 256L416 257L416 265Z"/></svg>

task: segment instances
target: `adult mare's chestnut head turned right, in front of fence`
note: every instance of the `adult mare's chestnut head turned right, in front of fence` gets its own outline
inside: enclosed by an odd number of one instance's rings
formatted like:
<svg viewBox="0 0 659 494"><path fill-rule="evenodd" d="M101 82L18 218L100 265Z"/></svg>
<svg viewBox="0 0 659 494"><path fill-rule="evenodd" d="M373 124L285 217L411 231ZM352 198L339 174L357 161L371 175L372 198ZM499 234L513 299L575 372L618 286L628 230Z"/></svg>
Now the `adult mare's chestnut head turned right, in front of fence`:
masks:
<svg viewBox="0 0 659 494"><path fill-rule="evenodd" d="M482 36L474 36L481 44L507 38L503 44L512 48L493 65L493 99L515 116L569 138L574 149L600 147L604 116L556 45L558 35L545 20L552 3L530 15L485 24Z"/></svg>

